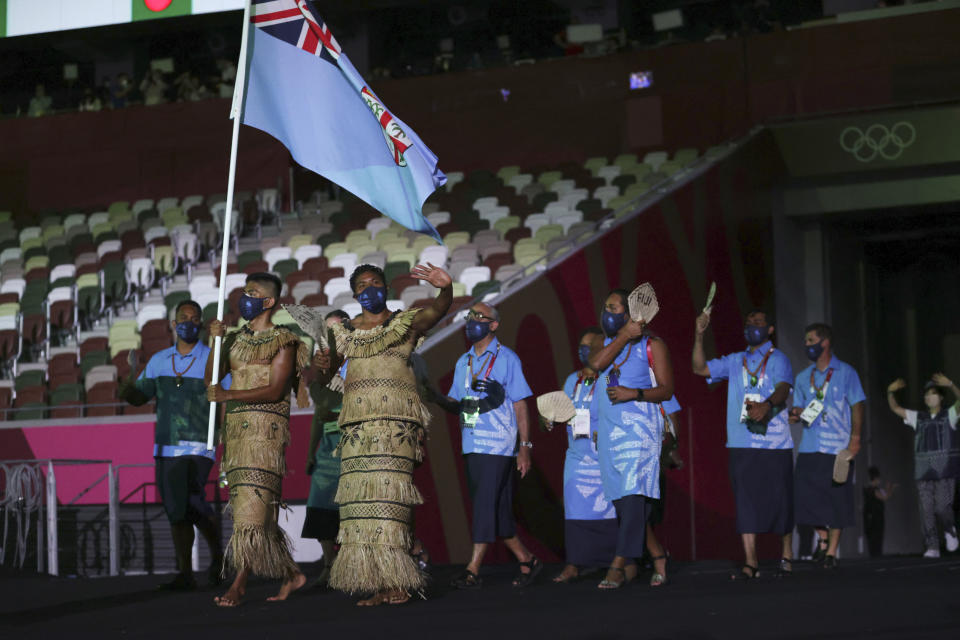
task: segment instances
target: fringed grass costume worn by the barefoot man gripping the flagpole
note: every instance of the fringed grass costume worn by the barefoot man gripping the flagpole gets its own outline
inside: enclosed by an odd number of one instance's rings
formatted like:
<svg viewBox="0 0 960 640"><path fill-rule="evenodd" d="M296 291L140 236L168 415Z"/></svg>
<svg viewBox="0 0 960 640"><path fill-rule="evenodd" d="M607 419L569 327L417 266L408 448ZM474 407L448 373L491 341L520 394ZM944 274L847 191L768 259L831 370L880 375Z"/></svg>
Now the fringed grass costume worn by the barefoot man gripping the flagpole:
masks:
<svg viewBox="0 0 960 640"><path fill-rule="evenodd" d="M227 341L231 389L267 386L271 361L289 345L297 349L297 378L309 360L306 345L284 327L256 332L244 327ZM298 393L299 405L304 404L303 392ZM233 514L225 567L290 580L299 569L290 555L290 541L277 524L280 487L287 471L284 451L290 443L290 402L229 403L223 443L221 467L227 475Z"/></svg>

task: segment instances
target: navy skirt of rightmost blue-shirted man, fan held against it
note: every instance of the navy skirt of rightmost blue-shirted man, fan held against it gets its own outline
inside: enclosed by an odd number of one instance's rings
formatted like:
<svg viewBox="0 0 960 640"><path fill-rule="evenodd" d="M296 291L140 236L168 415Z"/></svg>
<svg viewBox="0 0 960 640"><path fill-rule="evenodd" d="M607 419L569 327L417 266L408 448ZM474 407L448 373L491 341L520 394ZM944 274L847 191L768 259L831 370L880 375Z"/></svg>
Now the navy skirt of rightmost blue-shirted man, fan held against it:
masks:
<svg viewBox="0 0 960 640"><path fill-rule="evenodd" d="M852 527L853 462L843 484L833 481L833 461L829 453L801 453L797 456L797 524L828 529Z"/></svg>

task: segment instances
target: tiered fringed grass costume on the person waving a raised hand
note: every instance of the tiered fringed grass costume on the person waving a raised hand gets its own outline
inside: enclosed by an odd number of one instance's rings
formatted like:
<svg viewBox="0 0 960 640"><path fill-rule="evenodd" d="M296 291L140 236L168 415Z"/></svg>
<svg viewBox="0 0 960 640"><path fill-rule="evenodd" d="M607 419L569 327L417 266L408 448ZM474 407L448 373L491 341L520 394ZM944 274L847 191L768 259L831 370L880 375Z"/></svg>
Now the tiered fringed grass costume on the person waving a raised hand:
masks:
<svg viewBox="0 0 960 640"><path fill-rule="evenodd" d="M333 329L350 364L340 413L341 547L330 586L351 594L419 591L425 583L410 556L413 509L423 503L413 468L430 416L409 364L418 311L396 313L373 329Z"/></svg>

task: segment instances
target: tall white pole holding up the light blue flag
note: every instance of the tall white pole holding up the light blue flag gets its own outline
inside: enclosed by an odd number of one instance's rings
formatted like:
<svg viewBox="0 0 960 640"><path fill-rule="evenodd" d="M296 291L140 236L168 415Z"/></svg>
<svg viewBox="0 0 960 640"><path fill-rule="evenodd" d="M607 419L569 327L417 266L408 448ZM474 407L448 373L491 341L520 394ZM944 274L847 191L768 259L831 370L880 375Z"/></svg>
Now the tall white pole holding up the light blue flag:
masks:
<svg viewBox="0 0 960 640"><path fill-rule="evenodd" d="M230 142L230 170L227 176L227 202L223 213L223 247L220 252L220 291L217 298L217 320L223 321L223 301L227 288L227 263L230 254L230 230L233 227L233 191L237 175L237 141L240 138L240 115L243 110L243 96L247 82L247 45L250 33L250 0L243 3L243 34L240 37L240 59L237 61L237 78L233 89L233 104L230 117L233 118L233 138ZM211 384L220 383L220 350L223 338L217 336L213 341L213 376ZM210 418L207 422L207 449L213 451L214 426L217 419L217 403L210 403Z"/></svg>

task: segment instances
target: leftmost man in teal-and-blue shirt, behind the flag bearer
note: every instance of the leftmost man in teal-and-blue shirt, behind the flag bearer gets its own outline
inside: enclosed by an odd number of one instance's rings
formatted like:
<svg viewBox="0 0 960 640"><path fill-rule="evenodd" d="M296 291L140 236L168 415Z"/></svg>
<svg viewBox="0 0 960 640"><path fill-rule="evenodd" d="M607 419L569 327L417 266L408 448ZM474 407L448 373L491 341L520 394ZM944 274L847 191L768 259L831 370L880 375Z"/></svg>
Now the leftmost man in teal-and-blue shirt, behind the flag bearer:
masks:
<svg viewBox="0 0 960 640"><path fill-rule="evenodd" d="M197 585L191 567L194 526L210 545L213 561L208 579L212 584L219 584L223 564L220 533L205 498L214 452L207 450L210 403L203 373L210 348L199 341L201 318L200 305L193 300L177 305L170 323L176 344L154 354L136 381L121 382L119 388L119 396L134 406L157 400L153 457L178 571L163 588L173 590Z"/></svg>

